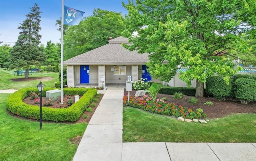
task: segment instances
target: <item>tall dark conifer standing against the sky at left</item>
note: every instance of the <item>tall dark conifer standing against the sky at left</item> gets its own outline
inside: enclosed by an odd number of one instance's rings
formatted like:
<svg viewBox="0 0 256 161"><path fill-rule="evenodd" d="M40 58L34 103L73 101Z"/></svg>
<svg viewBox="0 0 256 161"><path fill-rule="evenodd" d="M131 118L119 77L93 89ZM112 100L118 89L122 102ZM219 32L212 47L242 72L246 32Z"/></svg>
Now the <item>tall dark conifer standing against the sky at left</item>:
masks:
<svg viewBox="0 0 256 161"><path fill-rule="evenodd" d="M30 8L31 12L26 14L18 29L21 29L18 40L15 42L10 52L10 69L26 70L25 79L28 78L28 70L32 65L39 66L45 62L44 48L40 46L40 8L38 4Z"/></svg>

